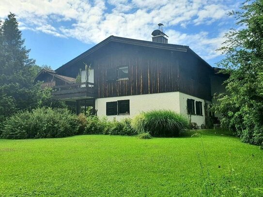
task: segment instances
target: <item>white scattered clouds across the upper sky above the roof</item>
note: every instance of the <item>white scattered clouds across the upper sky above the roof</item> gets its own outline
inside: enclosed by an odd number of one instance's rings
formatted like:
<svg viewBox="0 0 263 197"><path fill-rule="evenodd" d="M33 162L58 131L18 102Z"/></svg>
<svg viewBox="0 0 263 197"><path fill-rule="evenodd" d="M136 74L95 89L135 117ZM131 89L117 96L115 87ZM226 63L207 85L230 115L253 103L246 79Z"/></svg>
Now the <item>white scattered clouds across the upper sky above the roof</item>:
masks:
<svg viewBox="0 0 263 197"><path fill-rule="evenodd" d="M1 0L0 18L15 13L21 30L42 31L96 44L109 35L151 40L156 24L165 24L169 43L190 45L204 58L222 42L221 34L209 37L201 30L191 34L175 31L227 22L230 0ZM222 28L222 27L221 27ZM200 53L199 53L200 52Z"/></svg>

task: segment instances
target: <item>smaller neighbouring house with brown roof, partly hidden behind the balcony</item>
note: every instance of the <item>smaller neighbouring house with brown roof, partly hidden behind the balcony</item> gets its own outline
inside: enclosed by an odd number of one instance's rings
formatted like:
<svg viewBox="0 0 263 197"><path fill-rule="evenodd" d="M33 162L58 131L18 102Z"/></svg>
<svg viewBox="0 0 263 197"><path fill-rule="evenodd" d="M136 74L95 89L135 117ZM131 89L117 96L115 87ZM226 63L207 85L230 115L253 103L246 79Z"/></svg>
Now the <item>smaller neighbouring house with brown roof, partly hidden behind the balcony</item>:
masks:
<svg viewBox="0 0 263 197"><path fill-rule="evenodd" d="M76 78L58 75L56 71L43 68L35 77L35 82L43 81L42 88L76 83Z"/></svg>

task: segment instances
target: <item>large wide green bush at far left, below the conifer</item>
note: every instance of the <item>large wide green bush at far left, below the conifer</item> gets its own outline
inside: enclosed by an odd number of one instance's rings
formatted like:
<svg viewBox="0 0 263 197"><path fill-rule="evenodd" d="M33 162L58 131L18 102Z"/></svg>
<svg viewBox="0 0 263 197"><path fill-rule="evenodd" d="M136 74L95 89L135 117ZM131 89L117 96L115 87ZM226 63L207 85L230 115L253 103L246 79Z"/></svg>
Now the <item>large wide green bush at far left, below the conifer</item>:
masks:
<svg viewBox="0 0 263 197"><path fill-rule="evenodd" d="M49 138L73 136L78 132L77 116L67 109L37 108L20 111L2 124L2 138Z"/></svg>

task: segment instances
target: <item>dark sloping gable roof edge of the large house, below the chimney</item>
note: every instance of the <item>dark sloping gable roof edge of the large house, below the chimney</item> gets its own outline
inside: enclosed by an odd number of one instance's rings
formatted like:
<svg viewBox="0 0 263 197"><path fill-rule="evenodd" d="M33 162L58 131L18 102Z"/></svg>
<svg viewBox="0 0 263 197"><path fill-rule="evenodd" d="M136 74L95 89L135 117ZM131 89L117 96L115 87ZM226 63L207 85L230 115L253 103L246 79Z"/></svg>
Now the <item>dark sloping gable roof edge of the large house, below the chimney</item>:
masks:
<svg viewBox="0 0 263 197"><path fill-rule="evenodd" d="M118 37L118 36L109 36L102 42L100 42L97 45L94 45L92 48L88 49L84 53L80 54L76 58L74 58L71 61L68 61L58 69L56 69L56 72L60 72L67 67L71 66L74 64L76 61L81 60L82 58L90 55L94 51L98 50L104 45L107 45L109 42L118 42L118 43L124 43L124 44L129 44L129 45L140 45L140 46L146 46L146 47L153 47L153 48L160 48L160 49L166 49L166 50L173 50L173 51L182 51L182 52L187 52L190 51L193 53L197 58L199 58L201 61L203 61L207 66L209 66L210 69L213 69L212 66L210 66L206 61L204 61L199 55L197 55L192 49L189 48L189 46L186 45L174 45L174 44L165 44L165 43L156 43L152 41L144 41L144 40L136 40L136 39L130 39L130 38L124 38L124 37Z"/></svg>

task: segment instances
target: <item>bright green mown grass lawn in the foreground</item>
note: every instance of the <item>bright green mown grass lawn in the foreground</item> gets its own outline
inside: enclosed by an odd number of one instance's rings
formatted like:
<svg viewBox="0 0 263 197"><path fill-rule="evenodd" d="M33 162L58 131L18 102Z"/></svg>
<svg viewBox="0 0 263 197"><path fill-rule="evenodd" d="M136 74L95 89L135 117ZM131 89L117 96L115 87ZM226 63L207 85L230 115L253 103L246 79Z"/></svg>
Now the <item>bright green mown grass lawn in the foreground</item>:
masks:
<svg viewBox="0 0 263 197"><path fill-rule="evenodd" d="M0 196L263 196L259 147L198 133L0 139Z"/></svg>

